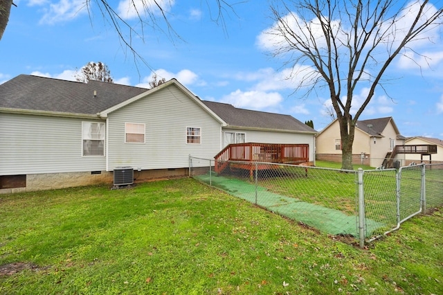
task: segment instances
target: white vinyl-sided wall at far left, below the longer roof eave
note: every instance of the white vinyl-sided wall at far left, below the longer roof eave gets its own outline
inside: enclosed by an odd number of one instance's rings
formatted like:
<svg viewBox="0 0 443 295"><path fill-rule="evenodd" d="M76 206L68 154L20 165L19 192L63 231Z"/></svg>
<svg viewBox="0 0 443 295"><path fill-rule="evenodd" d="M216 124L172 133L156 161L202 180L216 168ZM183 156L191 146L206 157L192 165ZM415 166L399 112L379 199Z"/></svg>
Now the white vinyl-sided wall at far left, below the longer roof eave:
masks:
<svg viewBox="0 0 443 295"><path fill-rule="evenodd" d="M0 114L0 175L105 170L105 157L82 157L82 121Z"/></svg>

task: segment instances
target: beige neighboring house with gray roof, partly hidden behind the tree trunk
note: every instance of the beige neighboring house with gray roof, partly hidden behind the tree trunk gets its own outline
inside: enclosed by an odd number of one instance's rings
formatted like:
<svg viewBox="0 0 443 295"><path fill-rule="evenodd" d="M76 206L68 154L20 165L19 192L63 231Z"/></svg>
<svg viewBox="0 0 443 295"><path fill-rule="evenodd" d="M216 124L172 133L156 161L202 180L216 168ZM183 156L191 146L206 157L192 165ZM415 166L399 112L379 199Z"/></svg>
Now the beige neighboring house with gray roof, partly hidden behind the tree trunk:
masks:
<svg viewBox="0 0 443 295"><path fill-rule="evenodd" d="M404 141L392 117L358 120L352 145L353 161L371 167L382 166L395 146L404 145ZM316 159L341 161L341 136L337 119L316 136ZM404 154L397 154L396 159L404 159Z"/></svg>

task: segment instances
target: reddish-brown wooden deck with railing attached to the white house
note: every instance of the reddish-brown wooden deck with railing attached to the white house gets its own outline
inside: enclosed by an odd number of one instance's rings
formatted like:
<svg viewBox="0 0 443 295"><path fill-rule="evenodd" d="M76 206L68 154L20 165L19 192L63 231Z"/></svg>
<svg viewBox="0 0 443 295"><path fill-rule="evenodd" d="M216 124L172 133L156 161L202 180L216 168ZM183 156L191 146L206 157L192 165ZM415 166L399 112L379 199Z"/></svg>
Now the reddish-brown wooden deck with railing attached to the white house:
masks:
<svg viewBox="0 0 443 295"><path fill-rule="evenodd" d="M229 166L247 169L252 173L255 168L252 163L260 163L257 168L265 170L275 167L266 163L300 165L308 162L308 144L235 143L226 146L215 156L215 172L222 172Z"/></svg>

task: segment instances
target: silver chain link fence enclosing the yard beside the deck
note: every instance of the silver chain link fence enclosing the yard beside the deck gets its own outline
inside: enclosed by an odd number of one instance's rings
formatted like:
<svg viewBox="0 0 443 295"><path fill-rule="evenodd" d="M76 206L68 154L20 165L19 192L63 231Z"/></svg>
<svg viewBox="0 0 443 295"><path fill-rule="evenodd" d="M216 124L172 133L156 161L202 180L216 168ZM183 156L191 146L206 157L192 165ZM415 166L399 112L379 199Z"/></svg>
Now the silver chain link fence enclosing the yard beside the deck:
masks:
<svg viewBox="0 0 443 295"><path fill-rule="evenodd" d="M291 220L357 238L361 247L443 204L443 164L355 171L190 157L189 171L205 184Z"/></svg>

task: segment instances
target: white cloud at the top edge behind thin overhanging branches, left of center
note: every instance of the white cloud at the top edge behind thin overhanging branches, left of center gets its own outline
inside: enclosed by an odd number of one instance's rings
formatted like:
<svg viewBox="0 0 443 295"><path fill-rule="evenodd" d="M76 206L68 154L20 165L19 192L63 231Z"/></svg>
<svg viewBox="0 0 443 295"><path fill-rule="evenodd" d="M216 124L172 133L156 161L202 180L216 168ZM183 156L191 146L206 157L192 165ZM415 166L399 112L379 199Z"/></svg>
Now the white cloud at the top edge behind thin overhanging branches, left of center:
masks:
<svg viewBox="0 0 443 295"><path fill-rule="evenodd" d="M123 19L151 17L161 15L161 10L169 12L174 2L174 0L123 0L118 3L117 12Z"/></svg>

